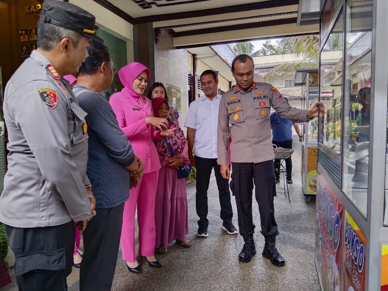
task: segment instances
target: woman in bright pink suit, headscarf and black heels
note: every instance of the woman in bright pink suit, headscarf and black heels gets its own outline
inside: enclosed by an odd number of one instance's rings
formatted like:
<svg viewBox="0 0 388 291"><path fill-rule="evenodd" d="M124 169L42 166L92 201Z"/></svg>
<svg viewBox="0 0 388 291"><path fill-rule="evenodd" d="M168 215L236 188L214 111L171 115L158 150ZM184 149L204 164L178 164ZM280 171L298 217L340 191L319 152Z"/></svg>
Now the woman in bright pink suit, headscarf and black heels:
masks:
<svg viewBox="0 0 388 291"><path fill-rule="evenodd" d="M109 100L133 151L145 165L144 175L139 185L130 190L129 200L125 202L121 230L123 259L126 261L128 270L136 274L142 272L135 252L136 206L139 254L145 257L151 267L161 267L154 257L155 196L161 166L153 139L170 137L174 131L174 129L165 129L168 125L166 119L154 117L151 101L143 96L149 76L149 69L138 62L126 65L119 71L120 81L125 87L121 92L113 94Z"/></svg>

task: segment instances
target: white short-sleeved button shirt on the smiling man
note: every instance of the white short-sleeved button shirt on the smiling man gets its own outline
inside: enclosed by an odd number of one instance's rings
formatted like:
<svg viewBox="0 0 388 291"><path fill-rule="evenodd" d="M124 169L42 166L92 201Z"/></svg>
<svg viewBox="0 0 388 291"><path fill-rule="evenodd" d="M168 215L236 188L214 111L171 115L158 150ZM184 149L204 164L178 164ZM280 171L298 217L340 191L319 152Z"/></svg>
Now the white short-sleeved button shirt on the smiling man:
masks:
<svg viewBox="0 0 388 291"><path fill-rule="evenodd" d="M194 128L194 155L201 158L217 158L218 107L221 96L210 101L206 95L191 102L185 126Z"/></svg>

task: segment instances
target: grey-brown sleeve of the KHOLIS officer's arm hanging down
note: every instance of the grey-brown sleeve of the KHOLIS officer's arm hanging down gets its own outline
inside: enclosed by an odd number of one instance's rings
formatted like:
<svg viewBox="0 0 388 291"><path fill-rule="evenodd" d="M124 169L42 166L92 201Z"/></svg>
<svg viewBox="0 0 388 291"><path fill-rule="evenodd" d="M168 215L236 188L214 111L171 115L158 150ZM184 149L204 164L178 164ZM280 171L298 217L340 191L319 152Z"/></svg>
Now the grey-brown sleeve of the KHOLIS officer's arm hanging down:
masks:
<svg viewBox="0 0 388 291"><path fill-rule="evenodd" d="M224 96L221 97L218 108L217 126L217 163L218 165L228 164L228 144L229 144L229 113L224 105Z"/></svg>

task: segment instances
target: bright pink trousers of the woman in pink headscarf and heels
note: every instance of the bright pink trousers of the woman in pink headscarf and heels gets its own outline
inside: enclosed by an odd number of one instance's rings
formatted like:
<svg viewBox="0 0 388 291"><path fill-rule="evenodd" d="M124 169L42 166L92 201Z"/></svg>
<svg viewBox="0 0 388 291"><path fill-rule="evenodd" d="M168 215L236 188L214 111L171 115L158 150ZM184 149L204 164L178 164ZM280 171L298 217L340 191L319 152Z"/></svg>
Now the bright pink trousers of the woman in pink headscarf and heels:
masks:
<svg viewBox="0 0 388 291"><path fill-rule="evenodd" d="M139 225L139 254L153 256L155 251L155 196L159 171L144 174L139 185L129 192L124 204L121 250L126 262L136 262L135 213Z"/></svg>

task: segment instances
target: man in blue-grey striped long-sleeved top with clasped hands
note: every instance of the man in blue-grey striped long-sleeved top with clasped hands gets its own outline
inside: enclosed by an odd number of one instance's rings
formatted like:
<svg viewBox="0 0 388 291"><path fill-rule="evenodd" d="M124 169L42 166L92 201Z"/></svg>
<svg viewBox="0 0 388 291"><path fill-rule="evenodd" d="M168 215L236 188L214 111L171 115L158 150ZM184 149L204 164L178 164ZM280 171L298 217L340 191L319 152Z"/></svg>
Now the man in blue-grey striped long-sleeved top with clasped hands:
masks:
<svg viewBox="0 0 388 291"><path fill-rule="evenodd" d="M130 187L136 187L144 170L144 163L133 153L111 105L100 94L113 80L113 62L108 48L92 41L88 54L73 92L88 114L85 118L89 135L87 174L96 198L97 215L83 232L85 253L80 291L111 289L124 202L129 198Z"/></svg>

